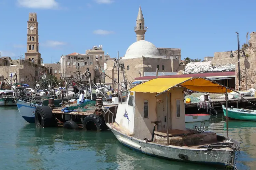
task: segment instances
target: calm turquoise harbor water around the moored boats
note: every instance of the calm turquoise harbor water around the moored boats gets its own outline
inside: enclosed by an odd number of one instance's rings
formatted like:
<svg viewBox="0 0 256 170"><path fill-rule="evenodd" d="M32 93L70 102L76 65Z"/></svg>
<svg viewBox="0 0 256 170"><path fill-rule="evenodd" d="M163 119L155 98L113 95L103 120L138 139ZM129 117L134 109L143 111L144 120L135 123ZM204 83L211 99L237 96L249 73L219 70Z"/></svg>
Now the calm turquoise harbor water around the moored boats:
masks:
<svg viewBox="0 0 256 170"><path fill-rule="evenodd" d="M121 145L111 131L36 128L23 120L15 106L0 107L0 122L0 169L220 169L134 152ZM186 124L187 128L194 125L198 123ZM241 142L238 169L255 169L256 122L230 121L228 127L229 137ZM212 116L206 130L225 135L224 117L221 114Z"/></svg>

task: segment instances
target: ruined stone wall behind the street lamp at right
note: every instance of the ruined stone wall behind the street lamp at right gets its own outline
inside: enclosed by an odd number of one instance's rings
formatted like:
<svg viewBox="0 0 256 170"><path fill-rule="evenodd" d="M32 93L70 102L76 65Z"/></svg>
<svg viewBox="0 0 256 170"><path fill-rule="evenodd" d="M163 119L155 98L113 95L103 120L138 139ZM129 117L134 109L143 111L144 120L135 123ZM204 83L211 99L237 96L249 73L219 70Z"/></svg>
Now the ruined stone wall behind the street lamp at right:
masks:
<svg viewBox="0 0 256 170"><path fill-rule="evenodd" d="M250 34L249 46L241 49L245 52L246 57L240 55L240 86L241 90L256 88L256 32ZM227 64L236 64L236 90L238 89L238 51L215 52L211 64L214 66L225 66Z"/></svg>

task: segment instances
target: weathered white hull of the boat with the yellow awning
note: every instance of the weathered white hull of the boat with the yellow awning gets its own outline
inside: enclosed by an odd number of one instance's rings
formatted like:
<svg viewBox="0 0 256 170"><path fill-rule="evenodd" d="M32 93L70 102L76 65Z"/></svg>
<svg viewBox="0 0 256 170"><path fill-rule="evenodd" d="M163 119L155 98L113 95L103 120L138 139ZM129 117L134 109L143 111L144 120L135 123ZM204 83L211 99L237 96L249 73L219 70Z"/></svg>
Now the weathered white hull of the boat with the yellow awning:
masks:
<svg viewBox="0 0 256 170"><path fill-rule="evenodd" d="M215 159L214 157L210 156L209 154L216 155L222 160L227 160L228 162L233 162L236 152L232 149L230 150L221 150L216 149L212 151L208 151L207 149L191 149L191 148L184 148L184 147L176 147L176 146L164 146L159 145L152 142L145 142L145 140L133 138L127 135L120 133L119 131L112 129L111 126L107 123L108 127L111 129L117 140L122 143L124 146L150 155L156 156L165 159L171 160L180 160L192 163L200 163L200 164L214 164L225 166L224 161L219 159ZM187 156L187 159L184 159L184 155ZM182 157L183 156L183 157Z"/></svg>

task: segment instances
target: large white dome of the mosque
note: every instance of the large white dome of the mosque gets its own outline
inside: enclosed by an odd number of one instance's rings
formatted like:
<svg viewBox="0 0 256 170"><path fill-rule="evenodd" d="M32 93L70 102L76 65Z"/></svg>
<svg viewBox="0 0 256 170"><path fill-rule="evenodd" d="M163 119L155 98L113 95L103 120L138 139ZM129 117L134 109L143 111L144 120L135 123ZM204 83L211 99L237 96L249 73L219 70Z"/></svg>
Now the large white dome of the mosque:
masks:
<svg viewBox="0 0 256 170"><path fill-rule="evenodd" d="M127 49L124 59L138 58L138 57L160 57L159 51L156 46L148 41L140 40Z"/></svg>

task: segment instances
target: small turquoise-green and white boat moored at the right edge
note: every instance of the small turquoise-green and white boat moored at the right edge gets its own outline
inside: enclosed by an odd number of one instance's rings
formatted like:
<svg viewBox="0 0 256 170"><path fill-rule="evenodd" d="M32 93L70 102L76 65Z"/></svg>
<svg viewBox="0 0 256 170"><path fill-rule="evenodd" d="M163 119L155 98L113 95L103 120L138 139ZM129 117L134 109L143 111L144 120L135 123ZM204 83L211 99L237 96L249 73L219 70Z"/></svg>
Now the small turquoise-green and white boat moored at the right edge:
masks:
<svg viewBox="0 0 256 170"><path fill-rule="evenodd" d="M224 116L227 118L227 109L222 105ZM228 108L228 118L237 120L256 121L256 110L244 108Z"/></svg>

